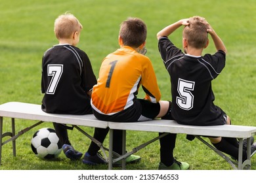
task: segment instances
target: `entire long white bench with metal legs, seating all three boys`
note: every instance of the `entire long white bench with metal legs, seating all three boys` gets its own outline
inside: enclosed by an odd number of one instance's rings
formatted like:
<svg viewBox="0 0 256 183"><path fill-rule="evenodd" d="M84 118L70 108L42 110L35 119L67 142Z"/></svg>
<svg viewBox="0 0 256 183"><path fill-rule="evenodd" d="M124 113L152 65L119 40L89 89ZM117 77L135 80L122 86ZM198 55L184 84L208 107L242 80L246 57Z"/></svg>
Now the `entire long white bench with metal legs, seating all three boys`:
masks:
<svg viewBox="0 0 256 183"><path fill-rule="evenodd" d="M3 117L12 118L12 132L3 133ZM15 135L15 118L21 118L26 120L39 120L39 122L33 124L26 129L20 131L17 135ZM216 126L192 126L192 125L181 125L177 124L177 122L172 120L151 120L147 122L131 122L131 123L119 123L119 122L104 122L100 120L96 120L93 115L67 115L67 114L49 114L45 113L41 110L41 105L34 105L30 103L19 103L19 102L9 102L0 105L0 165L1 165L1 150L3 144L12 141L12 149L13 155L16 156L15 151L15 139L20 135L25 133L26 131L32 129L36 125L41 124L42 122L56 122L60 124L70 124L74 125L79 131L84 133L87 137L89 137L92 141L96 142L98 146L103 150L108 150L104 148L100 142L93 139L90 135L88 135L81 128L77 127L77 125L81 126L89 126L89 127L100 127L100 128L110 128L110 141L109 141L109 155L108 155L108 169L112 169L112 165L114 162L123 159L122 169L125 169L125 158L138 150L144 148L148 144L160 139L167 133L184 133L189 135L194 135L204 144L209 146L212 150L214 150L219 156L224 158L234 169L251 169L251 149L249 146L250 137L252 135L256 135L256 127L253 126L244 126L244 125L216 125ZM120 129L123 130L123 154L119 155L118 158L113 159L112 154L116 154L113 152L113 130ZM165 133L161 137L156 137L148 142L144 142L139 146L133 148L131 152L126 152L126 131L149 131L149 132L163 132ZM2 142L3 137L10 136L11 138L5 142ZM239 158L238 162L232 161L228 156L211 146L207 141L204 141L200 136L215 136L215 137L233 137L239 139ZM242 141L243 139L247 139L247 160L242 162ZM106 157L106 153L104 152L104 156Z"/></svg>

